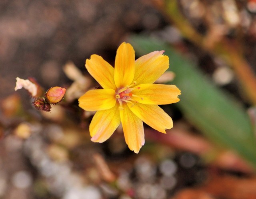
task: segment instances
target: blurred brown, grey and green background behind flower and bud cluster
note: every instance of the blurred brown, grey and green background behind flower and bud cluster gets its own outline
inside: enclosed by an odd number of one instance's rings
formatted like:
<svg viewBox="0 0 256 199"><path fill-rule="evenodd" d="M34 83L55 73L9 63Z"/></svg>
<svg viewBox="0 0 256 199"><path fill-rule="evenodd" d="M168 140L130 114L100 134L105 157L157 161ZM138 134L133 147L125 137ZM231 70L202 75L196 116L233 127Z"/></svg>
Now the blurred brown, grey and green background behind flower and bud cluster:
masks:
<svg viewBox="0 0 256 199"><path fill-rule="evenodd" d="M1 0L0 198L256 198L255 0ZM139 154L122 128L90 141L94 113L77 99L97 83L92 54L114 65L130 42L140 57L165 50L180 102L161 106L174 128L144 125ZM16 77L66 88L36 110Z"/></svg>

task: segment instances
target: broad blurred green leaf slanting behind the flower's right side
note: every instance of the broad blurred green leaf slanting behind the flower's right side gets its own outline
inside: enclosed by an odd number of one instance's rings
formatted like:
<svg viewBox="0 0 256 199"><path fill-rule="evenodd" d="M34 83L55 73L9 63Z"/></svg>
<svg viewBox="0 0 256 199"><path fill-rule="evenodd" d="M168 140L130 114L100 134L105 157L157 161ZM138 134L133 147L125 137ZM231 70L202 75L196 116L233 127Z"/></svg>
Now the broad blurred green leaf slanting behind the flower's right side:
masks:
<svg viewBox="0 0 256 199"><path fill-rule="evenodd" d="M249 116L238 101L211 83L191 61L169 45L136 35L129 42L139 55L165 50L170 59L169 70L176 73L170 84L182 93L176 105L184 116L218 146L236 150L256 167L256 139Z"/></svg>

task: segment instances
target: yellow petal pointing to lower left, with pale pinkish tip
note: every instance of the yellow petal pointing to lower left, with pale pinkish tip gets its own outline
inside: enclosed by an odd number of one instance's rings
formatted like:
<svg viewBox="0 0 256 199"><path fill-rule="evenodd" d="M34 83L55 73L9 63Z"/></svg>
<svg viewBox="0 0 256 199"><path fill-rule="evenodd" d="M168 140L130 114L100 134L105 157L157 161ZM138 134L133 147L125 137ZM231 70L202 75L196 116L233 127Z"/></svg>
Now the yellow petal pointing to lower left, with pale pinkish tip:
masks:
<svg viewBox="0 0 256 199"><path fill-rule="evenodd" d="M89 126L93 142L105 142L114 133L121 122L118 107L116 103L113 108L97 111L93 116Z"/></svg>

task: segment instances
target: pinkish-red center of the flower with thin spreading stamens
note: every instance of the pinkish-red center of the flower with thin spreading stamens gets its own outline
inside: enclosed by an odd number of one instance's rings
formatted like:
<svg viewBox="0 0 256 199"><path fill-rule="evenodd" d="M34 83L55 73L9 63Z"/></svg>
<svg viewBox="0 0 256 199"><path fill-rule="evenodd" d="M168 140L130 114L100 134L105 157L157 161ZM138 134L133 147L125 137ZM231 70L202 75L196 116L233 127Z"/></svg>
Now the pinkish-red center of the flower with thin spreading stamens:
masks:
<svg viewBox="0 0 256 199"><path fill-rule="evenodd" d="M118 89L116 91L116 100L118 100L120 106L119 109L123 110L124 108L122 107L122 102L128 102L131 103L133 106L135 103L137 103L136 100L132 99L132 97L138 97L137 95L132 94L131 92L134 89L140 89L140 87L134 87L131 88L132 86L136 85L136 81L134 81L131 85L123 87L121 89ZM141 98L142 99L142 98ZM132 102L133 101L133 102ZM134 103L135 102L135 103Z"/></svg>

